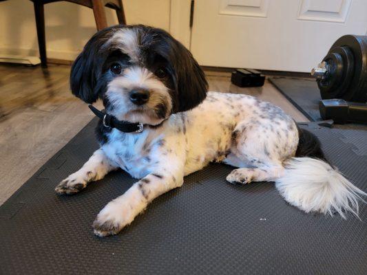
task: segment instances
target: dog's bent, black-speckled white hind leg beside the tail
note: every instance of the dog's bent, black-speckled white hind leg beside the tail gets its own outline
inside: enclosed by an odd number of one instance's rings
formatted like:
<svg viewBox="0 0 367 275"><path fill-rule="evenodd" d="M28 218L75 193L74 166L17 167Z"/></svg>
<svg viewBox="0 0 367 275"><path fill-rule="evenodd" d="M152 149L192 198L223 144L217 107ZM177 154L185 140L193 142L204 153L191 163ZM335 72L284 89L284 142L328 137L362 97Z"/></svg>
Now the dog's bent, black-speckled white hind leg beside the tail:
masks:
<svg viewBox="0 0 367 275"><path fill-rule="evenodd" d="M249 184L251 181L275 181L282 177L284 159L297 148L297 135L289 130L288 121L280 120L275 129L269 119L249 120L235 127L231 154L224 163L233 170L227 181Z"/></svg>

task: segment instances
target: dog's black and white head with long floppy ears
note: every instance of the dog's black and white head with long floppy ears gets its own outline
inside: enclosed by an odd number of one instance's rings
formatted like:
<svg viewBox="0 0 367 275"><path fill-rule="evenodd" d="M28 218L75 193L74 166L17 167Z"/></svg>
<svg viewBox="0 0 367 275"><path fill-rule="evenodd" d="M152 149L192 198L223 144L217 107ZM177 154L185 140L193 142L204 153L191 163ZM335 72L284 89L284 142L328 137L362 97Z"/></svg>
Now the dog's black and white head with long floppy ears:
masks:
<svg viewBox="0 0 367 275"><path fill-rule="evenodd" d="M164 30L143 25L97 32L76 58L70 83L75 96L87 103L101 98L119 120L153 125L207 94L191 53Z"/></svg>

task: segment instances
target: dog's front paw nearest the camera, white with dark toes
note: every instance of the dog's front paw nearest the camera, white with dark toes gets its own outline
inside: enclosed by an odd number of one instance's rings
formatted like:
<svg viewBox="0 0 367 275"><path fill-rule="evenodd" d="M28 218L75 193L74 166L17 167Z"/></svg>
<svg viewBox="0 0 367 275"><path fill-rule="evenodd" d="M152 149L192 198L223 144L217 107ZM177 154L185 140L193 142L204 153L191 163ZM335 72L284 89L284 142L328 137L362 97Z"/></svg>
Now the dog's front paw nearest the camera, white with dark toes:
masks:
<svg viewBox="0 0 367 275"><path fill-rule="evenodd" d="M111 201L99 212L93 223L94 234L97 236L109 236L120 232L126 225L132 222L132 209L125 203Z"/></svg>

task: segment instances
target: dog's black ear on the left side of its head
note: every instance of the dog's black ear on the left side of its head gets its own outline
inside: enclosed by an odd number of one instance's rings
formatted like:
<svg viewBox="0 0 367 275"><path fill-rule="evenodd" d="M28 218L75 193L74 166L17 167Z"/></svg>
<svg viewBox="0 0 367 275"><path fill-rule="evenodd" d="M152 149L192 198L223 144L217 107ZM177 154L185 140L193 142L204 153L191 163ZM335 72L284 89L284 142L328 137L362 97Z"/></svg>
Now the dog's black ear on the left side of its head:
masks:
<svg viewBox="0 0 367 275"><path fill-rule="evenodd" d="M70 73L72 94L87 103L96 102L104 89L104 85L97 83L106 58L106 50L103 49L103 45L116 28L118 26L106 28L94 34L72 65Z"/></svg>

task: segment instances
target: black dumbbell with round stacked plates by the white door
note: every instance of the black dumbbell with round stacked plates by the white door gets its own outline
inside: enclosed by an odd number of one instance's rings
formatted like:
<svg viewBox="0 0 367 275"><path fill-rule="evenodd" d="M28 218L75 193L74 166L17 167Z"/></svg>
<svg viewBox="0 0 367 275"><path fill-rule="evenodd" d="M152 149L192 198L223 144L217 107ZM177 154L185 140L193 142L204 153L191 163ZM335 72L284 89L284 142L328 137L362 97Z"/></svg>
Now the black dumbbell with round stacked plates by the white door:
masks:
<svg viewBox="0 0 367 275"><path fill-rule="evenodd" d="M323 99L319 103L323 119L367 122L367 36L339 38L311 75L317 78Z"/></svg>

